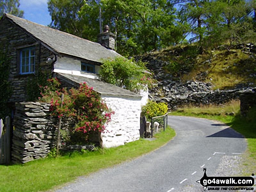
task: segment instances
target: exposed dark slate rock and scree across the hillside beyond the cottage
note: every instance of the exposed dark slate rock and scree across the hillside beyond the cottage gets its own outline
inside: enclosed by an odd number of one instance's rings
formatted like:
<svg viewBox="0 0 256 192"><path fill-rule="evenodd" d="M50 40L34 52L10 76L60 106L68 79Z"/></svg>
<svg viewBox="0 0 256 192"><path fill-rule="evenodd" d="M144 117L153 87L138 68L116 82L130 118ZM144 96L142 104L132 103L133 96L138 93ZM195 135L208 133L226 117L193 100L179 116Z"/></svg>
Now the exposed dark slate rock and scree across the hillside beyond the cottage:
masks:
<svg viewBox="0 0 256 192"><path fill-rule="evenodd" d="M239 44L236 49L240 49L243 53L256 54L256 46L254 44ZM220 46L218 50L227 50L227 47ZM232 99L238 99L243 92L254 93L253 84L239 84L236 88L229 90L213 90L211 83L204 83L208 71L200 72L195 79L198 81L181 82L180 77L173 77L171 74L165 73L165 68L170 62L165 58L167 56L176 57L186 51L184 48L177 48L171 51L164 50L161 55L157 53L149 53L143 56L135 57L135 60L141 60L147 63L147 67L154 72L154 79L158 81L156 87L150 90L150 99L157 102L167 102L169 109L175 110L186 104L224 104ZM189 60L189 58L186 57ZM211 59L204 61L204 64L211 64ZM181 68L180 74L189 72L189 67L193 67L193 63L189 66ZM256 77L253 71L249 75Z"/></svg>

